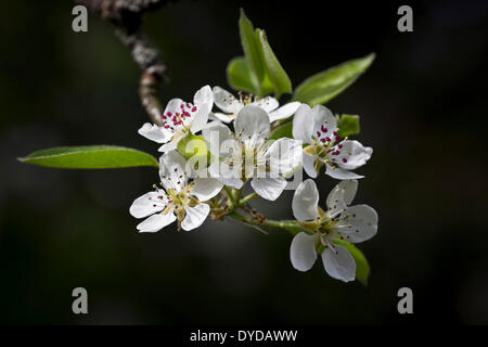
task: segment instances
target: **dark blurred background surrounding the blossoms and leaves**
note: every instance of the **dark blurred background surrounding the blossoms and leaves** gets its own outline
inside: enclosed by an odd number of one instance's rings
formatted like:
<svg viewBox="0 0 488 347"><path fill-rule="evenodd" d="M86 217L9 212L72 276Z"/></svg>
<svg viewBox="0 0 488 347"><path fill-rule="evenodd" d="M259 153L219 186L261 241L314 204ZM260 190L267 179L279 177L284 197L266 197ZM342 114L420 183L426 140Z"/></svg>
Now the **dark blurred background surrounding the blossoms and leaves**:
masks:
<svg viewBox="0 0 488 347"><path fill-rule="evenodd" d="M56 170L16 162L60 145L119 144L155 155L139 69L89 14L72 31L70 1L10 1L0 21L0 322L3 324L488 323L486 1L408 2L413 33L397 30L403 2L175 1L146 16L170 68L164 101L227 87L242 55L239 8L269 41L293 85L376 52L372 67L328 106L361 115L374 147L356 203L380 215L360 244L367 287L290 264L292 235L233 222L138 234L128 208L158 181L151 168ZM286 101L283 97L282 102ZM336 182L320 181L322 202ZM293 192L256 203L291 218ZM72 312L88 290L89 314ZM414 314L397 312L413 290Z"/></svg>

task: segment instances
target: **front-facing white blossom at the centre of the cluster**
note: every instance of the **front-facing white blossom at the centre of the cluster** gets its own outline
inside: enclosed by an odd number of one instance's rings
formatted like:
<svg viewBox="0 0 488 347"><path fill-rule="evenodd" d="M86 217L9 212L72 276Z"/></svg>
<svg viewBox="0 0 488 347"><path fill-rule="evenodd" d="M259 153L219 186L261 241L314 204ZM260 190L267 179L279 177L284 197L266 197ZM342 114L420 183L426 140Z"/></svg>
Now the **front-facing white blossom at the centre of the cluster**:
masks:
<svg viewBox="0 0 488 347"><path fill-rule="evenodd" d="M284 177L301 164L301 141L286 138L267 141L269 115L255 105L246 105L237 113L234 130L232 133L219 121L203 129L210 153L219 158L210 163L210 176L235 189L251 179L259 196L277 200L287 184Z"/></svg>

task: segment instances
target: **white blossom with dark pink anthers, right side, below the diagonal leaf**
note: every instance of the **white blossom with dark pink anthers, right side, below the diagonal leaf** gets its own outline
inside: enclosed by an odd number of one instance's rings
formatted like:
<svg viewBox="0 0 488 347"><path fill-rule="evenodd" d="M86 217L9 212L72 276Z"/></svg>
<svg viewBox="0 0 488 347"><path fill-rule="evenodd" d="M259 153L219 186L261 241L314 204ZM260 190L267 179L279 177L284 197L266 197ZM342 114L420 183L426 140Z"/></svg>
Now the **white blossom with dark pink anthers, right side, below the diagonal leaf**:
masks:
<svg viewBox="0 0 488 347"><path fill-rule="evenodd" d="M373 153L358 141L343 140L337 136L337 120L329 108L303 104L293 117L293 137L309 145L304 149L304 169L316 178L322 165L325 174L339 179L363 178L351 172L367 163Z"/></svg>

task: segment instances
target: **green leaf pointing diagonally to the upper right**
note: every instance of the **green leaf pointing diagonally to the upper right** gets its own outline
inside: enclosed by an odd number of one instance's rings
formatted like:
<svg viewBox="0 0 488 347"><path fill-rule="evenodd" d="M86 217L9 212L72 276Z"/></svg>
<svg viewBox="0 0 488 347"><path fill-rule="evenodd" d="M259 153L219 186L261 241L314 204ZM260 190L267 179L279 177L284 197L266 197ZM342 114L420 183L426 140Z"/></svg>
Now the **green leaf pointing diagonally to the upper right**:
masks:
<svg viewBox="0 0 488 347"><path fill-rule="evenodd" d="M307 78L299 85L293 99L310 106L323 104L349 87L374 60L374 53L345 62Z"/></svg>

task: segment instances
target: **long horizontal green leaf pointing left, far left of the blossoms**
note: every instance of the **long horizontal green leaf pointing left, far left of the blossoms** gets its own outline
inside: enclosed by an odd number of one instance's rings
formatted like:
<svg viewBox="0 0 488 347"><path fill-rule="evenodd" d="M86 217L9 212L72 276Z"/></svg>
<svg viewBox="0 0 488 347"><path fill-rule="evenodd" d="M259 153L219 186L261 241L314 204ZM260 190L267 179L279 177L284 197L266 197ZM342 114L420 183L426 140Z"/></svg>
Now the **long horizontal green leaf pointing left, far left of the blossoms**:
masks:
<svg viewBox="0 0 488 347"><path fill-rule="evenodd" d="M86 145L41 150L18 160L65 169L110 169L136 166L159 167L157 159L144 152L116 145Z"/></svg>

